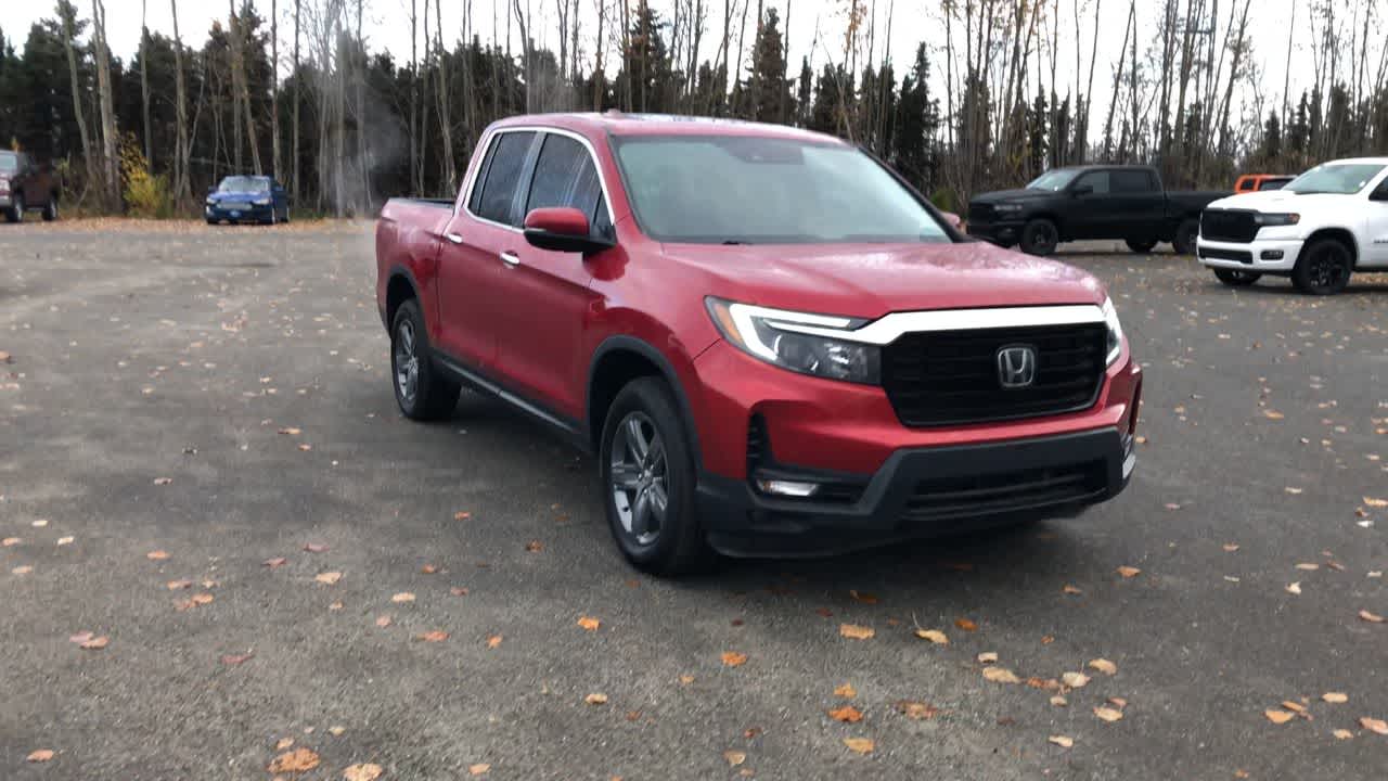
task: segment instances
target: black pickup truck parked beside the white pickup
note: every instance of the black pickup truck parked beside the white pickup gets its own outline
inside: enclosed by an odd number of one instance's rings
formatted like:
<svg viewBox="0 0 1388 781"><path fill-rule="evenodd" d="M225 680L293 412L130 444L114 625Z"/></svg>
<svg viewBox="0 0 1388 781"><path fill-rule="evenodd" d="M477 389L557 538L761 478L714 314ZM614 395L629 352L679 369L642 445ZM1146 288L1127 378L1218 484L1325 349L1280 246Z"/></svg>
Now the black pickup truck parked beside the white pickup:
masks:
<svg viewBox="0 0 1388 781"><path fill-rule="evenodd" d="M1053 168L1020 190L983 193L969 202L970 236L1029 254L1051 254L1060 242L1123 239L1137 253L1170 242L1195 252L1201 211L1228 192L1169 192L1156 168L1081 165Z"/></svg>

